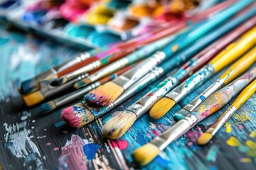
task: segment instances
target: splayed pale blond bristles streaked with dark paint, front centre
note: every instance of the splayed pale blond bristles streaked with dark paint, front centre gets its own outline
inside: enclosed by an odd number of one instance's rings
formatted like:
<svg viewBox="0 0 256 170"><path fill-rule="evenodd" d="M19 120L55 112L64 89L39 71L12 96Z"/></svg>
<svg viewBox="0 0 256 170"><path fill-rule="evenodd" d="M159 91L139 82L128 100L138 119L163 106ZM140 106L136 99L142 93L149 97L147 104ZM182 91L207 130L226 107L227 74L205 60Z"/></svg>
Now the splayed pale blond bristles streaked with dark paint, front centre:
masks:
<svg viewBox="0 0 256 170"><path fill-rule="evenodd" d="M122 111L107 121L102 127L102 134L112 140L122 137L137 120L137 115L130 111Z"/></svg>

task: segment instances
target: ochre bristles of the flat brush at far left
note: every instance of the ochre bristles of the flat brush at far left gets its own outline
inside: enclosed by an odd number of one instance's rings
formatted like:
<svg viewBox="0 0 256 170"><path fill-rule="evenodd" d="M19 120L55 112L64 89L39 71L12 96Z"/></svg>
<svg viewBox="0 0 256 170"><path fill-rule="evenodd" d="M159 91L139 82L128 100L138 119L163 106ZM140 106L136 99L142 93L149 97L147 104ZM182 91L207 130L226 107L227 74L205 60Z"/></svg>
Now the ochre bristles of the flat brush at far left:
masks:
<svg viewBox="0 0 256 170"><path fill-rule="evenodd" d="M41 91L34 91L31 94L22 94L21 97L28 107L34 106L45 99Z"/></svg>

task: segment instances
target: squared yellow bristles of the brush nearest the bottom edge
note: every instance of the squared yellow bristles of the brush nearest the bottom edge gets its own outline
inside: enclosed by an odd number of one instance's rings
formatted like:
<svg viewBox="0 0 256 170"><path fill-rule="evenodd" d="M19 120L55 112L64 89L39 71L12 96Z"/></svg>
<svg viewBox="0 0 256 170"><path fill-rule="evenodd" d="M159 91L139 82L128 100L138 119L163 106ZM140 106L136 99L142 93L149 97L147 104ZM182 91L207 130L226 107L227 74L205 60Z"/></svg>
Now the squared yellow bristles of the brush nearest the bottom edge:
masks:
<svg viewBox="0 0 256 170"><path fill-rule="evenodd" d="M148 143L136 149L133 153L133 157L139 164L146 165L149 164L149 162L151 162L159 154L159 152L159 147Z"/></svg>

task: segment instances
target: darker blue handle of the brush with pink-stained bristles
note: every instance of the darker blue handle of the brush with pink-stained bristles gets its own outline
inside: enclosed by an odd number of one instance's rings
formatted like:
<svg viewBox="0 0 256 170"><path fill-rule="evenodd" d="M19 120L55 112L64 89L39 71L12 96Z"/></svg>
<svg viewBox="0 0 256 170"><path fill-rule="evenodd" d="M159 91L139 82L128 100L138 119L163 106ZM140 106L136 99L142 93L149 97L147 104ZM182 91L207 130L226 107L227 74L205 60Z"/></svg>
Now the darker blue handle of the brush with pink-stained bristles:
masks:
<svg viewBox="0 0 256 170"><path fill-rule="evenodd" d="M187 47L185 50L182 50L181 52L178 52L174 57L171 57L171 59L167 60L166 62L160 64L160 67L164 69L164 72L169 72L174 67L182 64L183 62L186 62L186 60L189 60L191 57L196 55L200 50L203 50L206 46L210 45L210 43L214 42L218 38L220 38L222 35L225 35L225 33L228 33L233 28L239 26L241 23L247 21L252 16L256 15L256 7L250 9L250 11L247 11L246 13L242 13L242 15L232 19L228 23L226 23L223 26L220 26L218 29L214 30L213 32L208 33L207 35L203 36L203 38L200 38L196 41L193 45L190 47Z"/></svg>

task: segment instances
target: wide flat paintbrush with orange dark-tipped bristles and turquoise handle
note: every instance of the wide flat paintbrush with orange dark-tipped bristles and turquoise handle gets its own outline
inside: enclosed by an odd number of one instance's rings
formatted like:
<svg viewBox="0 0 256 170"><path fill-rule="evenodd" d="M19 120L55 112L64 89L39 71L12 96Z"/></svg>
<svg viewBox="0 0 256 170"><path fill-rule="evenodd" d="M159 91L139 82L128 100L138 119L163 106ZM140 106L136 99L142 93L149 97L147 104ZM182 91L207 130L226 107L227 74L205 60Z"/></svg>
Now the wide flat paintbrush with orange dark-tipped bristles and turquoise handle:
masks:
<svg viewBox="0 0 256 170"><path fill-rule="evenodd" d="M243 1L244 2L244 1ZM250 1L247 1L250 4ZM156 52L152 57L149 57L145 62L140 64L137 68L134 68L127 72L127 75L121 76L113 81L108 82L104 86L100 86L91 93L87 94L85 100L93 105L106 106L111 101L114 101L123 91L134 83L136 79L142 77L146 72L149 72L151 67L155 67L156 64L171 57L174 52L181 50L183 47L188 46L194 40L198 40L204 33L207 33L213 27L217 26L218 23L225 21L225 18L231 16L231 13L235 13L238 9L241 9L245 4L241 4L241 1L235 3L230 8L222 11L221 17L211 18L210 20L193 26L193 29L189 29L186 33L181 35L181 38L174 40L170 45L164 47L163 50ZM223 13L225 12L225 13ZM218 15L215 15L218 16ZM221 19L220 19L221 18Z"/></svg>

